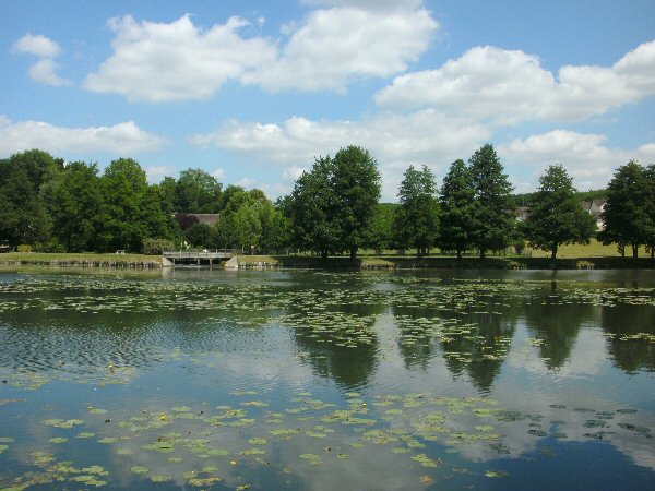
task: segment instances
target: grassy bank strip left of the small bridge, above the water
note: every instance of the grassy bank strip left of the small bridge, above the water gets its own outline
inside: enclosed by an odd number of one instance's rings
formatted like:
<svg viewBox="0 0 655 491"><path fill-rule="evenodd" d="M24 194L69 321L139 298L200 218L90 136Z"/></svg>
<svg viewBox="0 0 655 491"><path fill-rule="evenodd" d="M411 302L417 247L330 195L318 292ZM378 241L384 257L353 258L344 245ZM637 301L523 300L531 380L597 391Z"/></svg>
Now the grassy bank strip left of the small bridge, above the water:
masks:
<svg viewBox="0 0 655 491"><path fill-rule="evenodd" d="M162 256L145 254L95 254L58 252L9 252L0 264L80 267L162 267Z"/></svg>

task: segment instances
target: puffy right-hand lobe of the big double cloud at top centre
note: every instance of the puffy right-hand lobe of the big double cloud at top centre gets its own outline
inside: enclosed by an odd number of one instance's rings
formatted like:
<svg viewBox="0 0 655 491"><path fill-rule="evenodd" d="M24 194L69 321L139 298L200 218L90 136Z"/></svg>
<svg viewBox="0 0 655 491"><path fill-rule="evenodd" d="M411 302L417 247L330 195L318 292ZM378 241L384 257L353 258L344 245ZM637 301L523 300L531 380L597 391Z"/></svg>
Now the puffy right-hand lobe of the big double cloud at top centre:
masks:
<svg viewBox="0 0 655 491"><path fill-rule="evenodd" d="M286 25L287 44L274 60L247 72L265 89L345 91L355 77L405 71L428 48L438 24L425 9L377 11L341 7Z"/></svg>

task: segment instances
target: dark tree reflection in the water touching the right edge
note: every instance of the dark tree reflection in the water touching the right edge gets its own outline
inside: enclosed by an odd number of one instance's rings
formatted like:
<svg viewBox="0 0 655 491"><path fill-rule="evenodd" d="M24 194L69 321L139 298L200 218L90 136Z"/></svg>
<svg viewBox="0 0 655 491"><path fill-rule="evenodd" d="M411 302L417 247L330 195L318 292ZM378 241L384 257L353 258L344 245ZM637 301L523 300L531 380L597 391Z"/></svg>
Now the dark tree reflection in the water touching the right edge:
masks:
<svg viewBox="0 0 655 491"><path fill-rule="evenodd" d="M608 339L609 355L621 370L655 371L655 343L630 338L640 333L655 335L655 308L653 306L617 304L602 310L603 331L612 334Z"/></svg>

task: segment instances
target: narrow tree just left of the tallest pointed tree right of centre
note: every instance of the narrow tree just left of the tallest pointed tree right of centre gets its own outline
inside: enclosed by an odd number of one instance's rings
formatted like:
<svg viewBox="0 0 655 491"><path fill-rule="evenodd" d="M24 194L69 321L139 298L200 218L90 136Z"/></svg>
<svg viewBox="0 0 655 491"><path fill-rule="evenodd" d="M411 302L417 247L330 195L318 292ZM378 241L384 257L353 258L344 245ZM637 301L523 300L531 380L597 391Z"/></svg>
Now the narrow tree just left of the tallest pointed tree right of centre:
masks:
<svg viewBox="0 0 655 491"><path fill-rule="evenodd" d="M454 250L457 259L473 243L475 225L475 189L471 171L464 160L457 159L451 164L448 175L441 185L440 220L441 237L439 247Z"/></svg>

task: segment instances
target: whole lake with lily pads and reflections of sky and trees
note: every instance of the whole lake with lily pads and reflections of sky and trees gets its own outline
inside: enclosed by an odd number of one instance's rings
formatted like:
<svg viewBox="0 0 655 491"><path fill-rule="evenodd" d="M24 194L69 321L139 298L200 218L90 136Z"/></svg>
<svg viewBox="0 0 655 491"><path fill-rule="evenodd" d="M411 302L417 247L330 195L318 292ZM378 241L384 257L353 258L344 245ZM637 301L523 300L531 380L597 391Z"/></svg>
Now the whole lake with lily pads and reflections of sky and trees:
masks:
<svg viewBox="0 0 655 491"><path fill-rule="evenodd" d="M0 273L0 489L655 489L655 272Z"/></svg>

